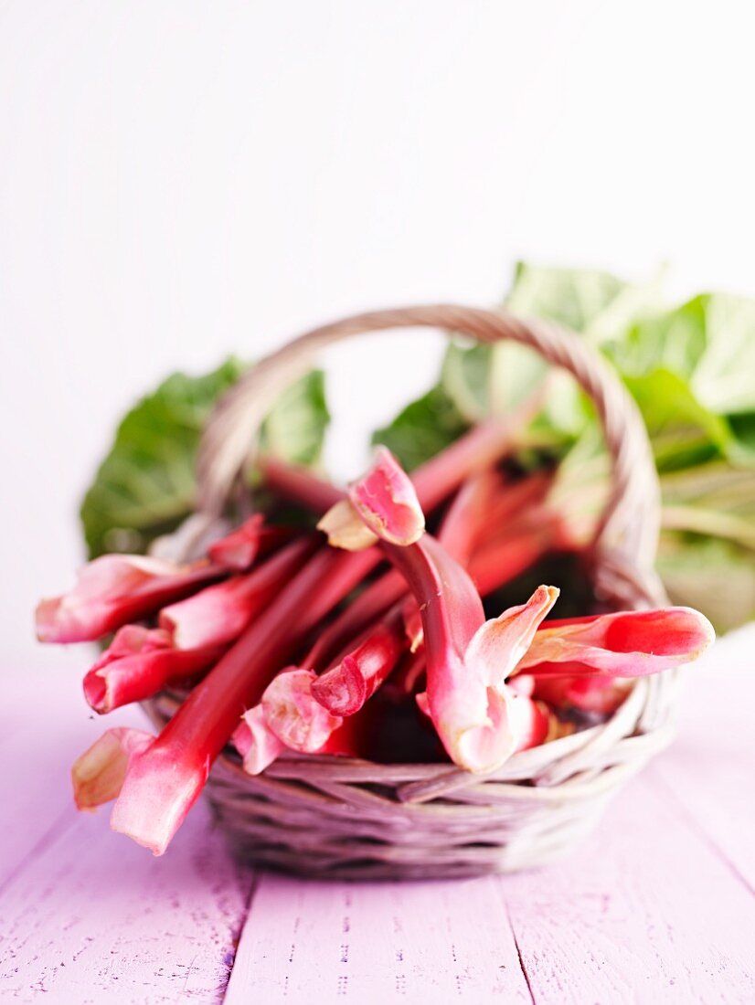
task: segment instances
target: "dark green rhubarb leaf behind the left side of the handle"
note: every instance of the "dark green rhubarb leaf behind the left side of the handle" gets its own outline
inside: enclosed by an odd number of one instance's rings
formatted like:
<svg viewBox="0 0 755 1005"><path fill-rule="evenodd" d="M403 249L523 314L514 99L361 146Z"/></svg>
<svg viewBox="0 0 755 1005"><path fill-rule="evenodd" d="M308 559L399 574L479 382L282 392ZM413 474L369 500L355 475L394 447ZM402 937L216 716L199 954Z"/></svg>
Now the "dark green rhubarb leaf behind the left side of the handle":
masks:
<svg viewBox="0 0 755 1005"><path fill-rule="evenodd" d="M191 513L202 428L217 399L245 369L231 358L204 376L172 374L128 412L81 504L90 558L144 552ZM265 448L286 460L316 463L328 419L323 375L313 372L272 409L262 433Z"/></svg>

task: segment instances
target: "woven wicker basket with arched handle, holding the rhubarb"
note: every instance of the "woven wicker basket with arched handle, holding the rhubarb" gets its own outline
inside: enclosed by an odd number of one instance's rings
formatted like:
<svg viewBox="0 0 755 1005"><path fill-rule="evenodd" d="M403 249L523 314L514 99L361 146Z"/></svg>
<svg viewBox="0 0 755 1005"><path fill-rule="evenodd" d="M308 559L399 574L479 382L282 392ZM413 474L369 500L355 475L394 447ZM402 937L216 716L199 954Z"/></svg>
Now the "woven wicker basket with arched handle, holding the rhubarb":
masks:
<svg viewBox="0 0 755 1005"><path fill-rule="evenodd" d="M449 306L380 311L317 329L266 357L225 396L199 454L192 540L222 513L276 396L316 353L364 332L429 327L536 349L593 399L612 458L612 490L590 551L596 595L617 608L665 602L652 572L658 485L644 427L614 374L573 334L541 321ZM671 739L676 673L637 681L605 724L514 756L487 776L447 764L379 765L291 753L249 777L230 749L207 795L237 853L257 863L339 878L466 876L556 859L592 827L604 803ZM163 725L179 697L148 702Z"/></svg>

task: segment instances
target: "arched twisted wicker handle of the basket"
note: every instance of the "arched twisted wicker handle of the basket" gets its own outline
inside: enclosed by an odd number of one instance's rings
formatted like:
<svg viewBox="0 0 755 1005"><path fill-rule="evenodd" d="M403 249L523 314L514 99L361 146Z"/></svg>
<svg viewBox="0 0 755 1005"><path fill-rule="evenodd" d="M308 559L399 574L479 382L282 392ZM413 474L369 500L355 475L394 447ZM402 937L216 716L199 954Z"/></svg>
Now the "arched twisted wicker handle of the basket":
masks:
<svg viewBox="0 0 755 1005"><path fill-rule="evenodd" d="M608 599L633 605L664 601L652 572L659 528L659 486L636 405L616 374L572 332L547 321L453 305L374 311L314 329L264 357L218 402L198 452L198 507L222 513L259 427L278 395L342 339L393 328L439 328L483 343L504 339L535 349L569 371L595 404L611 458L611 491L593 543L595 586Z"/></svg>

